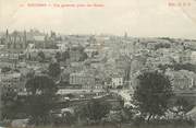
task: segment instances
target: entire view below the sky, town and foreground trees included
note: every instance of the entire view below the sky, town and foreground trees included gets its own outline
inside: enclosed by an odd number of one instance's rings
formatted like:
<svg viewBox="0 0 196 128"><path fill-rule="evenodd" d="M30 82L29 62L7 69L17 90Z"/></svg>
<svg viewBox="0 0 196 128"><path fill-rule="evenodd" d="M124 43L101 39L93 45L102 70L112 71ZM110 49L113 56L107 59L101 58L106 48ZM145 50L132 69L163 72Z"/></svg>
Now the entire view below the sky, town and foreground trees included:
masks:
<svg viewBox="0 0 196 128"><path fill-rule="evenodd" d="M196 39L5 30L0 96L2 127L194 128Z"/></svg>

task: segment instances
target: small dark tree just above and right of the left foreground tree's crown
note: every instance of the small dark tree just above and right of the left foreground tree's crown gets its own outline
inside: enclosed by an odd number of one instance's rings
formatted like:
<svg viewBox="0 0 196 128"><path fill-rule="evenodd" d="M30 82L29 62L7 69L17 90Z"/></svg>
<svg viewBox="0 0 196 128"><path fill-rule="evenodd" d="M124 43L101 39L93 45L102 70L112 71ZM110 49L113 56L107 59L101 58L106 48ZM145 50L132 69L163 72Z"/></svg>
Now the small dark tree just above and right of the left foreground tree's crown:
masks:
<svg viewBox="0 0 196 128"><path fill-rule="evenodd" d="M61 68L59 62L52 62L48 67L48 74L52 78L57 78L61 73Z"/></svg>

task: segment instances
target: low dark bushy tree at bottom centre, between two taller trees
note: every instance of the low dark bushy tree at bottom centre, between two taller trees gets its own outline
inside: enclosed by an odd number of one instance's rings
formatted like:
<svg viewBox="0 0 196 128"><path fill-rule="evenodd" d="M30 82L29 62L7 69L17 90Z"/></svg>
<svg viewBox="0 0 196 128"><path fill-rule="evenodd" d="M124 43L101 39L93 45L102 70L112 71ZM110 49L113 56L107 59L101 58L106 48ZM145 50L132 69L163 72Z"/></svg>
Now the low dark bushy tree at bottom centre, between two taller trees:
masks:
<svg viewBox="0 0 196 128"><path fill-rule="evenodd" d="M101 118L109 114L110 107L108 102L93 98L82 108L81 115L95 123L100 123Z"/></svg>

